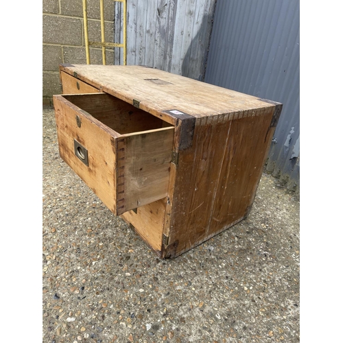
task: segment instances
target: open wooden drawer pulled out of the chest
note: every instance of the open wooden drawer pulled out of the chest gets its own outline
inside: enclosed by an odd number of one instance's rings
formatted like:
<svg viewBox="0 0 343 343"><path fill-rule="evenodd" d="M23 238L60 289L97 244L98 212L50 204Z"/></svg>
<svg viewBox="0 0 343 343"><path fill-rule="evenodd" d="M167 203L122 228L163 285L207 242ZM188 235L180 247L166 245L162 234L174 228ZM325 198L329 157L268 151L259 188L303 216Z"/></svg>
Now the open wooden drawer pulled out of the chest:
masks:
<svg viewBox="0 0 343 343"><path fill-rule="evenodd" d="M54 108L60 157L115 215L167 196L174 126L107 93Z"/></svg>

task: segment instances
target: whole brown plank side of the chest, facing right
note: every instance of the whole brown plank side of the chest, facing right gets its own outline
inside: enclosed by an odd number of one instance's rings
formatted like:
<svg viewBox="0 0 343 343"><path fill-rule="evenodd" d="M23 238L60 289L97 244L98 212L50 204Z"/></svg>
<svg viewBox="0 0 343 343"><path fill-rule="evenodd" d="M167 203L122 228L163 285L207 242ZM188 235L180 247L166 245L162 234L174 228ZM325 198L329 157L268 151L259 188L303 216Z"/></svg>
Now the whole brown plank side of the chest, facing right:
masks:
<svg viewBox="0 0 343 343"><path fill-rule="evenodd" d="M246 216L272 139L273 113L269 108L258 117L228 121L229 115L222 115L197 121L196 149L179 156L171 211L174 230L166 257L180 255Z"/></svg>

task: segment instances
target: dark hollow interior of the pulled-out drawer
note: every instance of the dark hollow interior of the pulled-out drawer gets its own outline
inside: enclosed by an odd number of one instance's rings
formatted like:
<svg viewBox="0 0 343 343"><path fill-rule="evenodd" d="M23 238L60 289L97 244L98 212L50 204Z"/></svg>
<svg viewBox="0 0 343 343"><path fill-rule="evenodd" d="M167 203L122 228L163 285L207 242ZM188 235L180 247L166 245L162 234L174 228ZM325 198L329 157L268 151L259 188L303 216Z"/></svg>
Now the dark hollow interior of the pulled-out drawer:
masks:
<svg viewBox="0 0 343 343"><path fill-rule="evenodd" d="M63 95L63 97L119 134L172 126L107 93Z"/></svg>

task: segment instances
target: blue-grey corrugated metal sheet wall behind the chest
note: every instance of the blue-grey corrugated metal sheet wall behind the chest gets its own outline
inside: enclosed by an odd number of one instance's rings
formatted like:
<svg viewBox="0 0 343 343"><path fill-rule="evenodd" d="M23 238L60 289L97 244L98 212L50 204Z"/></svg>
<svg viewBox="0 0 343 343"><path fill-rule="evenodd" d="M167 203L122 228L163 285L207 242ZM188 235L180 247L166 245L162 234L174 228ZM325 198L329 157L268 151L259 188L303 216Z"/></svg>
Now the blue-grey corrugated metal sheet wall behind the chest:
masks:
<svg viewBox="0 0 343 343"><path fill-rule="evenodd" d="M204 81L283 103L266 170L298 190L299 0L217 0Z"/></svg>

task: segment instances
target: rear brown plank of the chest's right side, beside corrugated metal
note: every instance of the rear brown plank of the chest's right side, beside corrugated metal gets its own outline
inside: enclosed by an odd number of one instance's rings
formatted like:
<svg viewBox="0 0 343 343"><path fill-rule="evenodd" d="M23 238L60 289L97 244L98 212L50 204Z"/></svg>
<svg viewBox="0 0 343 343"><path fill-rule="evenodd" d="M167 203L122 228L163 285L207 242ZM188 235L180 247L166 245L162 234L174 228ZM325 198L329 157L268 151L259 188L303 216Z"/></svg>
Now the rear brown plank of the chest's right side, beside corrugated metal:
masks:
<svg viewBox="0 0 343 343"><path fill-rule="evenodd" d="M231 123L209 235L243 218L251 206L272 139L273 114L274 110L266 110L263 116Z"/></svg>

